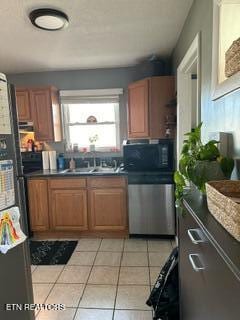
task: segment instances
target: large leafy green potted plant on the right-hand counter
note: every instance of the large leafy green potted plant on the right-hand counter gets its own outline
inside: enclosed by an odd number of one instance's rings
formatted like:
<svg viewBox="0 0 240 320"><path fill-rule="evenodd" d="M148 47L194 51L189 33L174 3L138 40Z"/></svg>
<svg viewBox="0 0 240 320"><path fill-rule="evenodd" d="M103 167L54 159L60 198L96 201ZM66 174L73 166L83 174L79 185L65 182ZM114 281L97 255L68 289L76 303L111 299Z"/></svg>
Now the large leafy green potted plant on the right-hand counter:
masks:
<svg viewBox="0 0 240 320"><path fill-rule="evenodd" d="M176 206L181 205L184 189L194 185L202 194L206 193L205 183L213 180L230 179L234 161L223 157L217 147L218 141L201 141L202 123L185 135L179 170L174 174L176 184Z"/></svg>

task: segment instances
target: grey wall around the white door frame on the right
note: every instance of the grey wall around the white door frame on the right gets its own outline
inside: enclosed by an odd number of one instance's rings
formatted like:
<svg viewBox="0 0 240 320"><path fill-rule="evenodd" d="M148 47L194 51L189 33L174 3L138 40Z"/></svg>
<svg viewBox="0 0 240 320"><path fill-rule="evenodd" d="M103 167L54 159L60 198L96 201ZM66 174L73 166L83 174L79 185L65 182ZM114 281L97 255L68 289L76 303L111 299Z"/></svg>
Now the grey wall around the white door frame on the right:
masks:
<svg viewBox="0 0 240 320"><path fill-rule="evenodd" d="M240 157L240 91L235 91L214 102L211 100L212 16L212 0L194 1L173 51L173 69L176 74L182 58L196 34L200 32L203 139L208 140L210 132L229 132L233 138L232 155Z"/></svg>

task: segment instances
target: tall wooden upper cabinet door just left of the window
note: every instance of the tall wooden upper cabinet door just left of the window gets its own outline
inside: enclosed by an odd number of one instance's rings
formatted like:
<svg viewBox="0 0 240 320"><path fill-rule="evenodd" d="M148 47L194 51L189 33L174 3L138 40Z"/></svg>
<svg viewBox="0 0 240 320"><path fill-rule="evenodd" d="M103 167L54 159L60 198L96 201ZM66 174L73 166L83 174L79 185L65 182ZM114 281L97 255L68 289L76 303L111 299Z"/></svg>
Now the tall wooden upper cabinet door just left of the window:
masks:
<svg viewBox="0 0 240 320"><path fill-rule="evenodd" d="M31 89L30 97L36 140L54 141L50 90Z"/></svg>

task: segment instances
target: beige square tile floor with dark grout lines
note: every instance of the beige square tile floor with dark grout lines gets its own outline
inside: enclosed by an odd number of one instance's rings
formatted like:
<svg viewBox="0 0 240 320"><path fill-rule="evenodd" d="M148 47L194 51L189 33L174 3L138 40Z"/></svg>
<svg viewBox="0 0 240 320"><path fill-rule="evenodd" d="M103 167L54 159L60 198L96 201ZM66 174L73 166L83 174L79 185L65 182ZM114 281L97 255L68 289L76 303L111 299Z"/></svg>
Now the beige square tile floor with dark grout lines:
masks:
<svg viewBox="0 0 240 320"><path fill-rule="evenodd" d="M36 320L150 320L151 285L170 240L80 239L67 265L32 266L35 303L62 303Z"/></svg>

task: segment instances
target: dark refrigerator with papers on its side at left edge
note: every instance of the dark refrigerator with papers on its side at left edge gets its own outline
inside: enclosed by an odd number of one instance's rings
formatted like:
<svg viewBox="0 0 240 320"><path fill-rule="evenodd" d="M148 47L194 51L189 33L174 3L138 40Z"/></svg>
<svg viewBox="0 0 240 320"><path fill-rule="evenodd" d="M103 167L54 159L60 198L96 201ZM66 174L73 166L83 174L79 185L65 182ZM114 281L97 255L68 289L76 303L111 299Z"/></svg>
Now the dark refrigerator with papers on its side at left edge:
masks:
<svg viewBox="0 0 240 320"><path fill-rule="evenodd" d="M3 171L5 163L11 170L11 190L6 183ZM6 76L0 73L0 211L19 208L20 226L27 235L27 211L19 148L18 121L14 86L7 83ZM9 168L10 168L9 167ZM9 190L8 190L9 188ZM9 194L7 194L9 192ZM4 209L4 210L3 210ZM33 320L34 312L24 310L25 304L33 303L31 265L28 240L0 253L0 319ZM6 304L8 304L6 306ZM13 304L18 304L14 306ZM22 309L14 310L14 309Z"/></svg>

